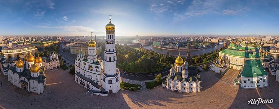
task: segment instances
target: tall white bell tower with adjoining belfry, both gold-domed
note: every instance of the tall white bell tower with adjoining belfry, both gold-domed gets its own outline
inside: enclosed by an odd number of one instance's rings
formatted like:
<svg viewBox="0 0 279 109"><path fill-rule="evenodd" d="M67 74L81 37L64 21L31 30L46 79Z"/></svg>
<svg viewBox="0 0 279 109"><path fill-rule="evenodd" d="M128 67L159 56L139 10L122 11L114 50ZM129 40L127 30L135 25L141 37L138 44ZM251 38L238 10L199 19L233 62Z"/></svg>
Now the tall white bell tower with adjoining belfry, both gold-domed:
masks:
<svg viewBox="0 0 279 109"><path fill-rule="evenodd" d="M75 59L75 82L88 89L87 94L107 96L108 93L117 93L120 90L120 73L116 68L115 25L109 23L105 26L106 40L104 60L98 60L96 55L96 42L88 42L88 55L80 50Z"/></svg>

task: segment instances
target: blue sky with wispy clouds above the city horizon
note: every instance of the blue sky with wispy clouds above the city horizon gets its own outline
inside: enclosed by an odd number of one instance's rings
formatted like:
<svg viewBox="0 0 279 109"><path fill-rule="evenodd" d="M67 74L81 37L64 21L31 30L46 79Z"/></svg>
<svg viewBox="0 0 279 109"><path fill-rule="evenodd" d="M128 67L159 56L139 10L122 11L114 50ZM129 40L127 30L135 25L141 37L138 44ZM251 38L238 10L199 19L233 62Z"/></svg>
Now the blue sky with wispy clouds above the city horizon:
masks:
<svg viewBox="0 0 279 109"><path fill-rule="evenodd" d="M0 36L278 35L279 1L1 0Z"/></svg>

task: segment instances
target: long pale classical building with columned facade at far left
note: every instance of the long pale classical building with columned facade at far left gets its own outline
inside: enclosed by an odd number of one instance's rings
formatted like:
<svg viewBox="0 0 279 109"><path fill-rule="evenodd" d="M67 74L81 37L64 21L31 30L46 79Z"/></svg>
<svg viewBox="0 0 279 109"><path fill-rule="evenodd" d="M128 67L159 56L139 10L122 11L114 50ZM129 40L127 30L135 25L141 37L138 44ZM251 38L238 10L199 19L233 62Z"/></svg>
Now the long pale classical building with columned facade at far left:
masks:
<svg viewBox="0 0 279 109"><path fill-rule="evenodd" d="M38 48L32 45L15 45L15 46L2 46L2 53L7 61L16 61L20 55L29 55L37 53Z"/></svg>

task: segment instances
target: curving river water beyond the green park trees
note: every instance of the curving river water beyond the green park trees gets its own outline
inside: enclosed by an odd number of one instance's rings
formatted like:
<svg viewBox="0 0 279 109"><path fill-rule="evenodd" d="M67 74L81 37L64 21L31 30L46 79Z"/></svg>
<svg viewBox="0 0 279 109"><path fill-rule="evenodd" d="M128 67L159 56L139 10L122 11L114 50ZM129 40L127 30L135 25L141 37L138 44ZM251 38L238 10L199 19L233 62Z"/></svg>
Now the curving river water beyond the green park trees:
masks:
<svg viewBox="0 0 279 109"><path fill-rule="evenodd" d="M133 41L133 42L137 42L137 40ZM210 53L212 51L218 50L220 47L223 47L224 44L218 44L216 46L212 46L212 47L208 47L205 49L201 49L201 50L189 50L190 55L202 55L203 53ZM153 47L147 44L143 44L142 47L144 49L150 50L150 48L152 49L152 51L161 53L161 54L166 54L169 51L169 55L178 55L178 53L180 52L180 55L182 56L186 56L188 53L188 50L166 50L166 49L162 49L162 48L157 48L157 47Z"/></svg>

